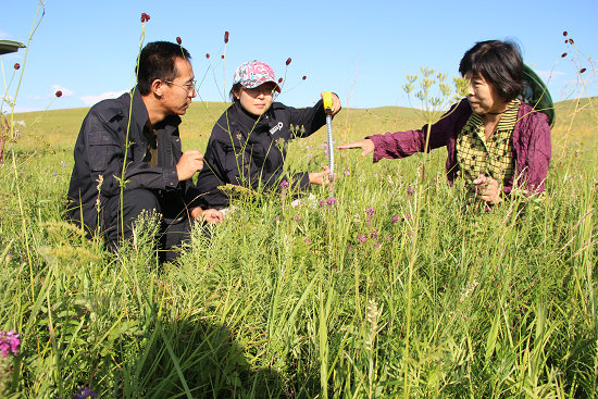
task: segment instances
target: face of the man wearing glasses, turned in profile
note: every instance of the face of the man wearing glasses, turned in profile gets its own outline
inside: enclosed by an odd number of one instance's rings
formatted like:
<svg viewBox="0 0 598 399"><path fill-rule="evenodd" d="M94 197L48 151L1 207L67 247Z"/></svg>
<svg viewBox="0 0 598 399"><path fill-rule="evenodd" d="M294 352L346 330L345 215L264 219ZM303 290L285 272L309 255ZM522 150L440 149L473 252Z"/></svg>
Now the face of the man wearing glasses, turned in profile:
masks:
<svg viewBox="0 0 598 399"><path fill-rule="evenodd" d="M195 90L195 74L191 63L182 58L174 62L176 77L164 83L162 91L162 104L169 114L185 115L197 93Z"/></svg>

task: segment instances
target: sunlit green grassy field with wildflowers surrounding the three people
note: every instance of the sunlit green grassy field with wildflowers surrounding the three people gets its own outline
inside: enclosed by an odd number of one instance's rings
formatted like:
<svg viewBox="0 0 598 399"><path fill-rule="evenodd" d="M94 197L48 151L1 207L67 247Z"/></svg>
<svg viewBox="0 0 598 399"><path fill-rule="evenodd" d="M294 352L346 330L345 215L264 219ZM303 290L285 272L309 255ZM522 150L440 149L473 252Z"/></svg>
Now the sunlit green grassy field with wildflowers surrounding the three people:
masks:
<svg viewBox="0 0 598 399"><path fill-rule="evenodd" d="M239 201L164 265L151 217L116 254L62 221L87 110L17 114L26 127L0 166L0 329L22 342L0 358L0 389L597 398L597 101L557 104L541 198L485 212L446 185L444 149L377 164L342 152L334 187L313 191L336 202ZM204 149L225 107L194 103L185 148ZM334 128L339 144L422 124L411 109L351 109ZM289 167L319 170L324 141L291 144Z"/></svg>

